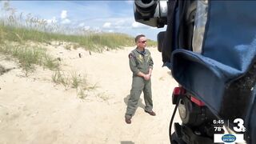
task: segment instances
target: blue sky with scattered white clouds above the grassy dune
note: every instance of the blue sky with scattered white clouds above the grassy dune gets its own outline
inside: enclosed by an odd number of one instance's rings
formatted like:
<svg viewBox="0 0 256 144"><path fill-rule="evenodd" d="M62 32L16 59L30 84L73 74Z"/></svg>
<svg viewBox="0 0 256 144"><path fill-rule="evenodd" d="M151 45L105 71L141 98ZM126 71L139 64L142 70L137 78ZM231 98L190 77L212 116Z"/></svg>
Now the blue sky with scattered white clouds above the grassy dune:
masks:
<svg viewBox="0 0 256 144"><path fill-rule="evenodd" d="M10 1L10 6L17 14L33 14L49 23L55 22L73 28L82 27L86 30L124 33L132 37L146 34L146 37L152 40L157 39L158 32L166 29L135 22L134 1L131 0Z"/></svg>

